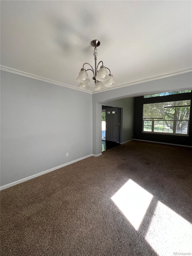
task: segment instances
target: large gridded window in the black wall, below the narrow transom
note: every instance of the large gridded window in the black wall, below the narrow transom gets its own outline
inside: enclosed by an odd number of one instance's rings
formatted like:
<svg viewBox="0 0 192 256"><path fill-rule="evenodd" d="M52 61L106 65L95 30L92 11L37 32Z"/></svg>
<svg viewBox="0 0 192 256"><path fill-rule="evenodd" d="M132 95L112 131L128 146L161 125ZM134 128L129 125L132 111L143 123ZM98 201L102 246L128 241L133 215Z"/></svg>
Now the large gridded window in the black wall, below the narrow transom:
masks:
<svg viewBox="0 0 192 256"><path fill-rule="evenodd" d="M190 100L143 104L143 131L188 134Z"/></svg>

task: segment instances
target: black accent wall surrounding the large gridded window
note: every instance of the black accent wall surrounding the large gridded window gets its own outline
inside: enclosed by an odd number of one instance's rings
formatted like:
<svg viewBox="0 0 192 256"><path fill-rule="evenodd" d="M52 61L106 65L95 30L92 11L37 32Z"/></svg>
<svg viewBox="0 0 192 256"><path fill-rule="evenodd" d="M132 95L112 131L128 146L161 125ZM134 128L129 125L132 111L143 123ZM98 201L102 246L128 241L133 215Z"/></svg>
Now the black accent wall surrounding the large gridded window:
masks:
<svg viewBox="0 0 192 256"><path fill-rule="evenodd" d="M170 134L144 133L143 128L143 104L167 102L167 101L182 101L191 100L192 92L175 95L159 96L152 98L143 98L143 96L135 98L134 111L134 139L150 140L164 143L173 143L179 145L192 146L192 108L190 108L189 136L179 136Z"/></svg>

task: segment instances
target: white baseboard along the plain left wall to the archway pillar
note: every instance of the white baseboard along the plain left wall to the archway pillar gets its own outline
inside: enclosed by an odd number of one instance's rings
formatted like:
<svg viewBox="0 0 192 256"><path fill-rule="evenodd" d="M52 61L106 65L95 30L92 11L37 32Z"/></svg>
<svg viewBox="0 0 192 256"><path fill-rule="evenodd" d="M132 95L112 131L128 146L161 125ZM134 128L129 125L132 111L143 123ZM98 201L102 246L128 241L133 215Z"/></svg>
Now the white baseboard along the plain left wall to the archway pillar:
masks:
<svg viewBox="0 0 192 256"><path fill-rule="evenodd" d="M101 153L101 155L102 155L102 153ZM5 188L12 187L12 186L17 185L17 184L19 184L19 183L25 182L25 181L27 181L27 180L29 180L29 179L33 179L33 178L35 178L35 177L41 176L41 175L43 175L43 174L45 174L45 173L52 172L52 171L54 171L54 170L57 170L57 169L59 169L59 168L62 168L62 167L64 167L64 166L67 166L67 165L69 165L69 164L73 164L73 163L75 163L75 162L78 162L78 161L80 161L80 160L83 160L83 159L85 159L85 158L88 158L88 157L90 157L90 156L93 156L93 154L91 154L91 155L86 155L86 156L84 156L84 157L81 157L81 158L78 158L78 159L76 159L76 160L70 161L70 162L68 162L68 163L66 163L66 164L61 164L61 165L59 165L59 166L57 166L57 167L53 167L53 168L51 168L51 169L49 169L49 170L46 170L46 171L43 171L43 172L41 172L41 173L36 173L36 174L31 175L31 176L29 176L29 177L26 177L26 178L24 178L24 179L19 179L19 180L17 180L17 181L11 182L11 183L9 183L9 184L7 184L7 185L3 185L3 186L0 187L0 190L3 190L3 189L5 189ZM94 155L94 156L95 156L95 155ZM97 155L97 156L98 156L98 155Z"/></svg>

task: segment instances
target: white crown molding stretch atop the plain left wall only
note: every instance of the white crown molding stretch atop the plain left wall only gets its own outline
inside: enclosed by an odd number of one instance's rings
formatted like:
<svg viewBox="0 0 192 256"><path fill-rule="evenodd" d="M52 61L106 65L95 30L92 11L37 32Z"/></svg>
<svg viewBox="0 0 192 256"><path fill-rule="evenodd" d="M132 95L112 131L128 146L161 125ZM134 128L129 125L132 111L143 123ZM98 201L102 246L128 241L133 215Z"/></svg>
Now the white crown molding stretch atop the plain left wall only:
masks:
<svg viewBox="0 0 192 256"><path fill-rule="evenodd" d="M86 92L86 93L92 94L91 91L88 91L88 90L85 90L85 89L80 89L79 87L76 87L76 86L73 86L73 85L69 85L69 84L66 84L66 83L61 83L61 82L58 82L58 81L55 81L55 80L52 80L52 79L49 79L49 78L40 77L40 76L30 74L30 73L27 73L27 72L23 72L23 71L14 69L14 68L9 68L9 67L3 66L3 65L0 65L0 69L4 70L4 71L11 72L11 73L19 74L19 75L22 75L22 76L25 76L25 77L31 77L31 78L34 78L34 79L37 79L37 80L40 80L40 81L53 83L53 84L68 87L68 88L71 88L71 89L75 89L75 90L78 90L78 91L81 91L81 92Z"/></svg>

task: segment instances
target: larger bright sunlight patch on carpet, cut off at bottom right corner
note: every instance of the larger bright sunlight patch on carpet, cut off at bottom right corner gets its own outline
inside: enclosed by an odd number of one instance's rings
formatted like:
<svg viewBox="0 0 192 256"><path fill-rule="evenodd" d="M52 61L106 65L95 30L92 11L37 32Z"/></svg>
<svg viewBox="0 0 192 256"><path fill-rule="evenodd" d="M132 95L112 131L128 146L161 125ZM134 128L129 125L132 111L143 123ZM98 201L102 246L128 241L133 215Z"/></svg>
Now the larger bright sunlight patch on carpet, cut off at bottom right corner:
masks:
<svg viewBox="0 0 192 256"><path fill-rule="evenodd" d="M145 239L159 256L192 253L192 224L158 201Z"/></svg>

